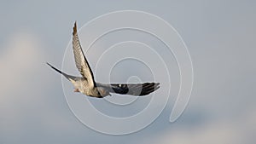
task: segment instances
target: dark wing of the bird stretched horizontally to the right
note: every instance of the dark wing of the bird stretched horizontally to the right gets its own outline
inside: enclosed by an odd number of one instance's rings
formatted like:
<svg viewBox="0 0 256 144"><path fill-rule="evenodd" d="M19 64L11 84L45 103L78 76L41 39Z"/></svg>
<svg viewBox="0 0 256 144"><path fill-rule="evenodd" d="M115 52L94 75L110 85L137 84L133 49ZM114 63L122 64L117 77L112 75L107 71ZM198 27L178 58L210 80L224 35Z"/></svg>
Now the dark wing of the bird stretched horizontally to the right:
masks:
<svg viewBox="0 0 256 144"><path fill-rule="evenodd" d="M108 89L111 93L121 95L148 95L154 90L160 88L159 83L144 83L144 84L96 84L97 87Z"/></svg>

